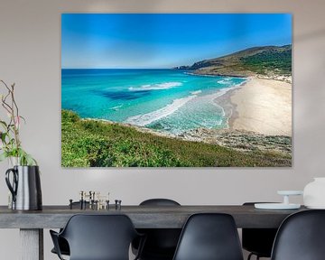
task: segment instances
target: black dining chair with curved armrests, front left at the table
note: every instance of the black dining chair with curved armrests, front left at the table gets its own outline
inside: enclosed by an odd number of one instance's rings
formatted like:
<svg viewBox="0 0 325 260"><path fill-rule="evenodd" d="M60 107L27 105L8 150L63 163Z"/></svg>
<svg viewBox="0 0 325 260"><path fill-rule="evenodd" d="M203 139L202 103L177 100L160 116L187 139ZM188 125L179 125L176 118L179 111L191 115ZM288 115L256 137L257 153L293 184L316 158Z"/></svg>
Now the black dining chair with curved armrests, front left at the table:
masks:
<svg viewBox="0 0 325 260"><path fill-rule="evenodd" d="M137 233L130 218L125 215L74 215L60 233L50 230L54 248L60 259L59 237L70 246L70 260L129 260L129 247ZM138 259L136 255L135 259Z"/></svg>

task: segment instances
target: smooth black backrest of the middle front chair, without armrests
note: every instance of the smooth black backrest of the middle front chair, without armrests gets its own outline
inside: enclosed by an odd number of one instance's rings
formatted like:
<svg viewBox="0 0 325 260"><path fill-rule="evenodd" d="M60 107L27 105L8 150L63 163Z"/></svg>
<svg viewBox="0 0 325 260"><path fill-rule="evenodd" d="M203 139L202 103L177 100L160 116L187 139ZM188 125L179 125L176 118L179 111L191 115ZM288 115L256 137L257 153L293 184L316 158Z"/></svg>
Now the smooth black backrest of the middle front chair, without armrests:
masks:
<svg viewBox="0 0 325 260"><path fill-rule="evenodd" d="M231 215L191 215L181 232L173 260L242 260L236 223Z"/></svg>

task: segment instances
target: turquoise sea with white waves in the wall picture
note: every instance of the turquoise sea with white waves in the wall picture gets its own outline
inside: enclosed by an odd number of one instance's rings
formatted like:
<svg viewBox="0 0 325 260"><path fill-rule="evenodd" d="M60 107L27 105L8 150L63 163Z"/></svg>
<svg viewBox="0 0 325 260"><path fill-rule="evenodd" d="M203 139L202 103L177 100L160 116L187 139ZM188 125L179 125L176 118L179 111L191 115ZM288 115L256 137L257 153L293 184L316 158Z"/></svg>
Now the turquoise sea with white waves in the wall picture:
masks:
<svg viewBox="0 0 325 260"><path fill-rule="evenodd" d="M61 106L100 118L181 134L224 128L215 98L246 79L192 75L185 70L61 70Z"/></svg>

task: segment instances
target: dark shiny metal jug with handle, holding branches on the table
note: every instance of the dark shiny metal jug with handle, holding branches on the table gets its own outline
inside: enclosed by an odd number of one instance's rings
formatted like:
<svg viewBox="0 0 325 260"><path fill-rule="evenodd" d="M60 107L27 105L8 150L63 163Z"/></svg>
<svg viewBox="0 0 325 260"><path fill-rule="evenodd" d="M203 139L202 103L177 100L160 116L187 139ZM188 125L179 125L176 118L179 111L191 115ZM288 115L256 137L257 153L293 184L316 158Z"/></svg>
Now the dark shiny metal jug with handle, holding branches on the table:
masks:
<svg viewBox="0 0 325 260"><path fill-rule="evenodd" d="M10 181L10 175L12 182ZM42 190L38 166L14 166L5 172L5 182L13 195L12 209L42 209Z"/></svg>

